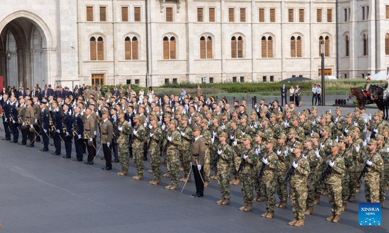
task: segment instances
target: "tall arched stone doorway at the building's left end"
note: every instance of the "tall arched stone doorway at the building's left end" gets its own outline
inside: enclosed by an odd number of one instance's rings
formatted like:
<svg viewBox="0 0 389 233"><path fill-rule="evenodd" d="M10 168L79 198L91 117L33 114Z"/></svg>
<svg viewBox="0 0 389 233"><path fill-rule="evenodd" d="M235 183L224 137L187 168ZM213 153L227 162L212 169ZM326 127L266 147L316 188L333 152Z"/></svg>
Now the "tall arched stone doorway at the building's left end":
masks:
<svg viewBox="0 0 389 233"><path fill-rule="evenodd" d="M7 18L6 18L7 19ZM10 15L0 25L0 75L4 86L44 86L50 83L47 36L42 27L24 12Z"/></svg>

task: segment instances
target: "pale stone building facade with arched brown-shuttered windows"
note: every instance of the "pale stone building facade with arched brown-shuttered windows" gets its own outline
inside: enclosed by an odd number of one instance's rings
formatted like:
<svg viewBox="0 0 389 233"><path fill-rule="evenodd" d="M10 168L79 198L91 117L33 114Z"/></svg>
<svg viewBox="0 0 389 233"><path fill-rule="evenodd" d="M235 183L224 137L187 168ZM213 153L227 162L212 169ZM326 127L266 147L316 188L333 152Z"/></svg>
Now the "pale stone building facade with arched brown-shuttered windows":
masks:
<svg viewBox="0 0 389 233"><path fill-rule="evenodd" d="M317 79L323 41L326 75L362 77L389 67L387 5L389 0L2 0L0 75L6 85L28 87Z"/></svg>

